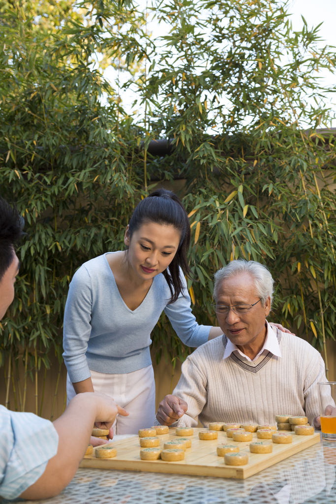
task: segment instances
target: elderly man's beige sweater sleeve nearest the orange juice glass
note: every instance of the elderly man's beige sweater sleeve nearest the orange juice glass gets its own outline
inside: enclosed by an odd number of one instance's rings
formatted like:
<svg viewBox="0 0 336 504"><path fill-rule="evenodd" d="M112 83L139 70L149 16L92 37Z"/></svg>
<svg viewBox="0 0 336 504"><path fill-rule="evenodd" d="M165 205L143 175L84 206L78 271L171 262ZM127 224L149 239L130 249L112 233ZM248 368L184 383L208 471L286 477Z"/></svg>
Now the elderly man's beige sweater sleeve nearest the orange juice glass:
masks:
<svg viewBox="0 0 336 504"><path fill-rule="evenodd" d="M314 358L310 361L310 366L306 379L304 381L303 396L305 399L305 412L310 425L313 425L313 419L320 414L318 405L319 382L327 382L325 376L325 366L321 355L316 351ZM333 406L330 397L329 404Z"/></svg>

